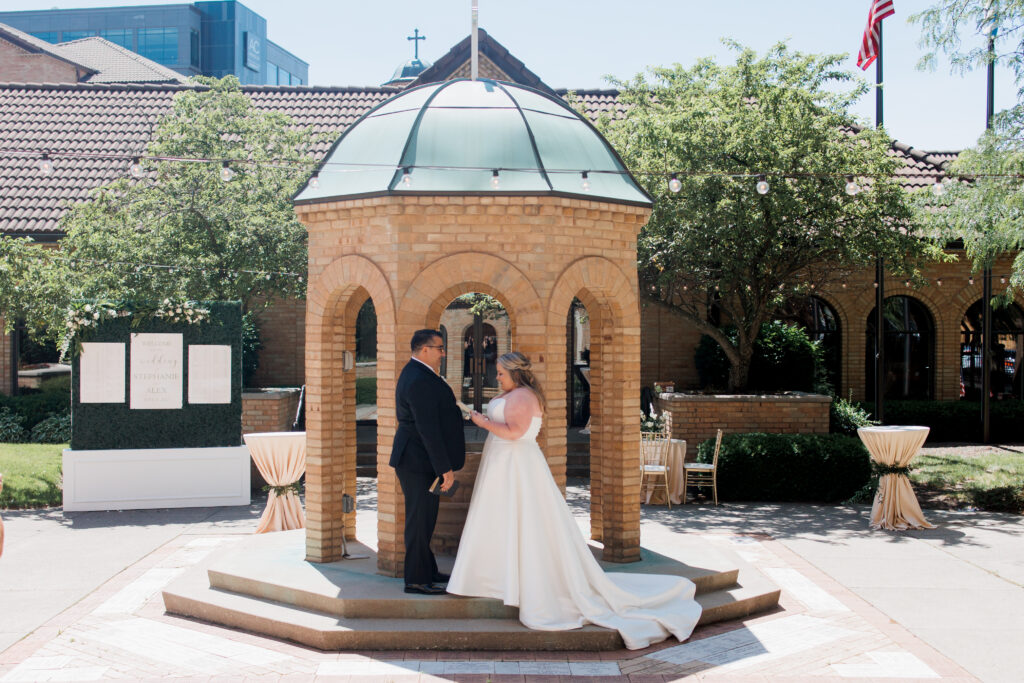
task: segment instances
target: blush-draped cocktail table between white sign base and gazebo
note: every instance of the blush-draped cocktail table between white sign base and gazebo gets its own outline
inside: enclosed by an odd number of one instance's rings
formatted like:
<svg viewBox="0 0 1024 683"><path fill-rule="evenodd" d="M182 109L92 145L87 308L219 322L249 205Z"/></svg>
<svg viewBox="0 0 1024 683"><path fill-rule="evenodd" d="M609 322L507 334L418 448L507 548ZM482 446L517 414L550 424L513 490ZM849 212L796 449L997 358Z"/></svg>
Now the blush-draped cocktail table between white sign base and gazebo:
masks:
<svg viewBox="0 0 1024 683"><path fill-rule="evenodd" d="M306 470L306 433L261 432L245 434L243 438L256 468L270 486L256 532L304 527L299 479Z"/></svg>

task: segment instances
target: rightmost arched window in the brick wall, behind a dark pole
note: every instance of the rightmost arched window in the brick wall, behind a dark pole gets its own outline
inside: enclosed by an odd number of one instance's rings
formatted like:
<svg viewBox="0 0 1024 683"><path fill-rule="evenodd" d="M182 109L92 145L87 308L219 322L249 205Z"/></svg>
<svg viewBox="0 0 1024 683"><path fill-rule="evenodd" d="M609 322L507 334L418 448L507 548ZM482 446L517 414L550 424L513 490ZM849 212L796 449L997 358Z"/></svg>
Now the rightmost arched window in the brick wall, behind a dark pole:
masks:
<svg viewBox="0 0 1024 683"><path fill-rule="evenodd" d="M961 321L961 398L981 399L982 302L976 301ZM1024 312L1017 304L992 308L991 373L989 391L994 398L1024 396L1020 372L1024 345Z"/></svg>

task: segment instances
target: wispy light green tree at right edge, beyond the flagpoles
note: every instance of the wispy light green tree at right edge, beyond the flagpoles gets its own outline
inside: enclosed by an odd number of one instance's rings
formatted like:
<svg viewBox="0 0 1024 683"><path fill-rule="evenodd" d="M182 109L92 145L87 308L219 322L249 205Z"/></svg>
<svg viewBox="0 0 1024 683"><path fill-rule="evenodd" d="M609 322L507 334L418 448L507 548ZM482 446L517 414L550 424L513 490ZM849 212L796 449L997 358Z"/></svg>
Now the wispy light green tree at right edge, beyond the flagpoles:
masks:
<svg viewBox="0 0 1024 683"><path fill-rule="evenodd" d="M922 27L922 43L931 48L921 66L933 67L937 53L946 54L952 67L968 72L989 62L1006 63L1019 86L1024 86L1024 0L943 0L910 17ZM995 30L994 48L984 40ZM968 36L978 38L965 46ZM1009 47L1007 47L1009 45ZM916 198L919 220L946 242L962 241L975 269L991 267L1001 254L1015 254L1010 287L1002 301L1013 298L1013 288L1024 290L1024 87L1018 103L995 116L992 128L971 150L964 151L946 169L955 179L940 197Z"/></svg>

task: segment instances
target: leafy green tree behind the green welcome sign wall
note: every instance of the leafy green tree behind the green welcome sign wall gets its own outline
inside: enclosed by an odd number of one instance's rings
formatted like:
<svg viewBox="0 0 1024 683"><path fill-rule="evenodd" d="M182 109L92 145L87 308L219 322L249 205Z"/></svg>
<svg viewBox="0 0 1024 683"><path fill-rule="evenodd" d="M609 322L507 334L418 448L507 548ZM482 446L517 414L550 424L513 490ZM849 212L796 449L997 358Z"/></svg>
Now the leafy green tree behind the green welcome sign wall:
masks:
<svg viewBox="0 0 1024 683"><path fill-rule="evenodd" d="M142 176L97 189L61 218L59 250L0 240L8 326L23 318L53 335L76 299L241 300L255 311L304 295L306 232L291 198L317 138L257 110L233 76L197 80L154 131Z"/></svg>

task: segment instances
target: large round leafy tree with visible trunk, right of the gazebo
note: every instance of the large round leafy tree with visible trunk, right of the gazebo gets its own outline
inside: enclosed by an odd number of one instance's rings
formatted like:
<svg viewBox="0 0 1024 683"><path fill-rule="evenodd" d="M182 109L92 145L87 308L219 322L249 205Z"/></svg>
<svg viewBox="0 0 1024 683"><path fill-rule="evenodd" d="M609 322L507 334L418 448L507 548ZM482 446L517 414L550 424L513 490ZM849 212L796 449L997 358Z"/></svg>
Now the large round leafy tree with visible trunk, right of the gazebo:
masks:
<svg viewBox="0 0 1024 683"><path fill-rule="evenodd" d="M641 292L714 338L731 364L729 388L743 389L761 325L786 298L880 256L912 271L930 247L910 224L889 138L848 113L867 86L840 71L842 55L778 44L760 57L727 44L735 65L702 59L614 82L629 109L599 123L655 198L637 245ZM847 176L864 189L847 194Z"/></svg>

